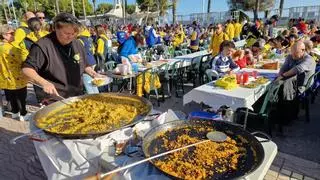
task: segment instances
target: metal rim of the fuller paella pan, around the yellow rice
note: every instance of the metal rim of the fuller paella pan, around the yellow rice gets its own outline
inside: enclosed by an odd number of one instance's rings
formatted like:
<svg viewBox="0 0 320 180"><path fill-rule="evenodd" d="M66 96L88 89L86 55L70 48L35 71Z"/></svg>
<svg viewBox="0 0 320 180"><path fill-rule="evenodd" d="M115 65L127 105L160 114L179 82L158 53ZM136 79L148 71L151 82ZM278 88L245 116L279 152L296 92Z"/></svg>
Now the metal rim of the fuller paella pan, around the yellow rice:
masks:
<svg viewBox="0 0 320 180"><path fill-rule="evenodd" d="M143 118L145 116L147 116L152 110L151 102L146 100L145 98L138 97L138 96L135 96L135 95L121 94L121 93L87 94L87 95L83 95L83 96L76 96L76 97L67 98L67 99L65 99L63 101L65 103L72 103L72 102L75 102L75 101L78 101L78 100L81 100L81 99L85 99L85 98L90 98L90 97L94 97L94 96L98 96L99 97L99 96L105 96L105 95L110 96L110 97L118 97L118 96L119 97L128 97L128 98L133 99L135 101L136 100L140 101L140 102L144 103L144 105L146 106L148 111L145 112L145 113L141 113L141 114L137 115L129 123L126 123L125 121L120 121L121 127L117 127L115 125L114 127L110 127L108 129L105 129L103 132L89 132L89 133L83 133L83 134L81 134L81 133L78 133L78 134L62 134L62 133L51 132L48 129L44 129L44 131L46 133L51 134L51 135L59 136L59 137L62 137L62 138L73 138L73 139L74 138L94 138L94 137L98 137L98 136L101 136L103 134L107 134L109 132L115 131L115 130L119 130L119 129L122 129L122 128L133 126L133 125L137 124L138 122L142 121ZM35 115L34 115L34 118L33 118L35 126L40 128L40 129L42 129L38 125L38 121L43 117L47 117L47 115L50 114L52 111L56 111L57 109L60 109L62 106L65 105L64 102L57 101L55 103L52 103L52 104L40 109L38 112L36 112ZM125 100L123 100L123 103L125 103ZM130 102L128 102L128 103L130 103Z"/></svg>

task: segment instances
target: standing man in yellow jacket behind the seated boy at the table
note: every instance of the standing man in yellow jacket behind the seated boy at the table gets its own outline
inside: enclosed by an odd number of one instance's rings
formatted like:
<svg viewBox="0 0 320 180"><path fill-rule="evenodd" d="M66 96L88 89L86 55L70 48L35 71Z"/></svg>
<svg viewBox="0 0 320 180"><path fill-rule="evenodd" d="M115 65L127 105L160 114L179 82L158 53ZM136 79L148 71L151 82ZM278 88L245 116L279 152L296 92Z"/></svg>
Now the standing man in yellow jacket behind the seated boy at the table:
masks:
<svg viewBox="0 0 320 180"><path fill-rule="evenodd" d="M220 44L229 40L229 37L226 33L223 32L222 24L217 24L216 30L211 37L211 42L208 51L212 52L212 56L216 56L220 52Z"/></svg>

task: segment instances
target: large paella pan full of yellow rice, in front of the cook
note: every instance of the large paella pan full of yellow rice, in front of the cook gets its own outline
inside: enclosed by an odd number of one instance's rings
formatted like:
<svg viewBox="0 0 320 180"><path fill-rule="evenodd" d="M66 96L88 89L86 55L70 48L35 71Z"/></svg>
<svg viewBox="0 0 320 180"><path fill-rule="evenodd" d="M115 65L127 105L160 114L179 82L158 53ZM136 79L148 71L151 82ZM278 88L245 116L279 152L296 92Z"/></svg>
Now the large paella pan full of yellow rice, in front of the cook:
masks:
<svg viewBox="0 0 320 180"><path fill-rule="evenodd" d="M129 127L150 113L152 104L141 97L101 93L71 97L39 110L35 125L64 138L91 138Z"/></svg>

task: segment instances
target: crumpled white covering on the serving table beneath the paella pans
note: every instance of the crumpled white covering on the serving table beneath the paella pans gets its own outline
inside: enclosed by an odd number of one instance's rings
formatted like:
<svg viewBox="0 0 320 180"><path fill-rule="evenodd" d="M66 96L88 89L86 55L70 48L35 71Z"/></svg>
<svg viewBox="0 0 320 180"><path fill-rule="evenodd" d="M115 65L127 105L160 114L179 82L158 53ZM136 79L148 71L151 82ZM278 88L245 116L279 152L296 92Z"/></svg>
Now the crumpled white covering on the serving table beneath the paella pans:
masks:
<svg viewBox="0 0 320 180"><path fill-rule="evenodd" d="M152 113L158 112L153 111ZM161 116L158 121L153 122L153 125L163 123L164 117ZM30 123L30 130L37 130L33 122ZM68 140L42 133L40 134L41 138L48 140L45 142L34 141L34 146L49 180L78 180L99 172L101 155L108 152L109 148L113 147L116 141L131 138L132 135L132 128L114 131L95 139Z"/></svg>

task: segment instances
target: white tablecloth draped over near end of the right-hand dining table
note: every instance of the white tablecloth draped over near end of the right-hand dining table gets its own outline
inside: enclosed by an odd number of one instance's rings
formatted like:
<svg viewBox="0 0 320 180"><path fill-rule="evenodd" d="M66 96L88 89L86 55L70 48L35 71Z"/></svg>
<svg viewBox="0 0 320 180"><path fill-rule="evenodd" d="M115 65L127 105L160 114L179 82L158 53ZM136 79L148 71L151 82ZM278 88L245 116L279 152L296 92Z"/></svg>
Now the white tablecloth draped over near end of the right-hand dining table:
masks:
<svg viewBox="0 0 320 180"><path fill-rule="evenodd" d="M183 105L194 101L196 103L204 103L214 109L219 109L222 105L228 105L233 110L239 107L251 109L251 106L265 92L268 84L269 83L253 89L238 87L233 90L225 90L214 86L214 83L210 82L192 89L185 94L183 96Z"/></svg>

